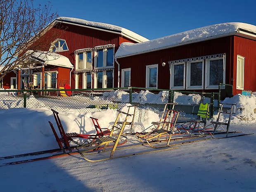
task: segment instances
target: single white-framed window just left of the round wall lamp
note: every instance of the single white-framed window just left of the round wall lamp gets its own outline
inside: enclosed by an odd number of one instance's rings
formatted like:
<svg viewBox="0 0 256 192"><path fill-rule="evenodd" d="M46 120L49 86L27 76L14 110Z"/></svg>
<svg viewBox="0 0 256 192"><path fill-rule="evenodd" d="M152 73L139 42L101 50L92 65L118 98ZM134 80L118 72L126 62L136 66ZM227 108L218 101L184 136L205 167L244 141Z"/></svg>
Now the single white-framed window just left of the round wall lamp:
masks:
<svg viewBox="0 0 256 192"><path fill-rule="evenodd" d="M146 66L146 88L156 88L158 81L158 64Z"/></svg>

